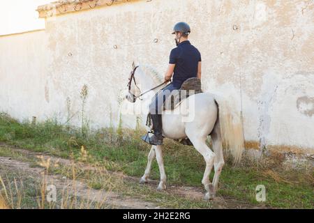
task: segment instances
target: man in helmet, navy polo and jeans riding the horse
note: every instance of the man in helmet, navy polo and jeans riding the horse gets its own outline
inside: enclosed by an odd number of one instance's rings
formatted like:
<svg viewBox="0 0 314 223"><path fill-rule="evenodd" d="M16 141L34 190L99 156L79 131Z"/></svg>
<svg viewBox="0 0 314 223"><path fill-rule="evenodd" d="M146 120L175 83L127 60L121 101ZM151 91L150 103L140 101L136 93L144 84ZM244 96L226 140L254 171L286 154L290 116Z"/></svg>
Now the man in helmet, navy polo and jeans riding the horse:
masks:
<svg viewBox="0 0 314 223"><path fill-rule="evenodd" d="M153 121L154 135L147 137L144 135L142 139L151 145L162 145L162 121L161 114L163 112L163 102L169 97L172 91L179 90L181 85L190 77L198 77L201 79L201 54L188 40L190 34L190 26L186 22L179 22L174 26L173 33L177 47L172 49L170 53L169 66L165 72L165 82L172 83L167 85L156 93L149 105L151 121Z"/></svg>

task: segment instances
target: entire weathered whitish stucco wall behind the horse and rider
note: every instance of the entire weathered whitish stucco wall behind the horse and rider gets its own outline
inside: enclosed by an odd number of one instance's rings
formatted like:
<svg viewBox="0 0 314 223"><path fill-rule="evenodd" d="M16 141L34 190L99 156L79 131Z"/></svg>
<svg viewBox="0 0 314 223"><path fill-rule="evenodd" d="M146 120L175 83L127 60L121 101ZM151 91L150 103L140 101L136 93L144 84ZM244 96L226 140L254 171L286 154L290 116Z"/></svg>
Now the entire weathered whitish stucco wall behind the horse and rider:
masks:
<svg viewBox="0 0 314 223"><path fill-rule="evenodd" d="M45 31L0 37L0 109L65 121L87 84L91 125L117 125L132 61L165 72L178 21L202 53L204 90L243 112L246 146L314 153L313 1L136 1L47 18Z"/></svg>

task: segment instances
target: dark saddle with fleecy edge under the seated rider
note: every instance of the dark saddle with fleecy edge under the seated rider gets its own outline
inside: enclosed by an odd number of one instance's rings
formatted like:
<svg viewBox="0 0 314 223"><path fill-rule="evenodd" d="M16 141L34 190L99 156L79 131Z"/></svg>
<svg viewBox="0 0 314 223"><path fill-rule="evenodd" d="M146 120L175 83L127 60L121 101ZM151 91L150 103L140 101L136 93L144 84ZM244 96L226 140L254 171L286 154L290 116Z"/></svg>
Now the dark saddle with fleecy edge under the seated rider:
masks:
<svg viewBox="0 0 314 223"><path fill-rule="evenodd" d="M197 93L202 93L201 81L197 77L191 77L181 85L181 88L179 90L173 91L171 95L166 98L165 102L163 103L163 110L173 110L180 105L182 100L188 98L190 95L194 95ZM151 129L153 127L150 113L147 114L146 125ZM184 145L193 146L193 144L190 142L190 139L188 138L175 141L178 141L179 143Z"/></svg>

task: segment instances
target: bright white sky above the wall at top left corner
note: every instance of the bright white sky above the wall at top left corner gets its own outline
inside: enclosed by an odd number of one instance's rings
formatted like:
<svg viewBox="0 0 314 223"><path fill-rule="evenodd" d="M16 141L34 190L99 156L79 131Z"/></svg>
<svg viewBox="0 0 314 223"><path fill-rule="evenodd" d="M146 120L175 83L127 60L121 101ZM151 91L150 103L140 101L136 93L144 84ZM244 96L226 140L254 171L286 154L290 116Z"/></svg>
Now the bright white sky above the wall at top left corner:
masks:
<svg viewBox="0 0 314 223"><path fill-rule="evenodd" d="M56 0L0 0L0 35L44 29L37 6Z"/></svg>

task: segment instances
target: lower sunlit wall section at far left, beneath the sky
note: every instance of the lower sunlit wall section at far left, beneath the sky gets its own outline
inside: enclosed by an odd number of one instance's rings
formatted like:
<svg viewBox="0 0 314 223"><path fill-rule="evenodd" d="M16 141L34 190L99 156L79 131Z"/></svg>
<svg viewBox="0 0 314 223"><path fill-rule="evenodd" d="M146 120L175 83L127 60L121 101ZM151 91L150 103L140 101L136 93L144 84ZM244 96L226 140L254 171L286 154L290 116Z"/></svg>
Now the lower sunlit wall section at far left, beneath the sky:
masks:
<svg viewBox="0 0 314 223"><path fill-rule="evenodd" d="M45 31L0 37L0 110L16 118L49 114Z"/></svg>

